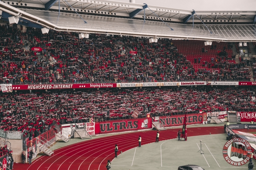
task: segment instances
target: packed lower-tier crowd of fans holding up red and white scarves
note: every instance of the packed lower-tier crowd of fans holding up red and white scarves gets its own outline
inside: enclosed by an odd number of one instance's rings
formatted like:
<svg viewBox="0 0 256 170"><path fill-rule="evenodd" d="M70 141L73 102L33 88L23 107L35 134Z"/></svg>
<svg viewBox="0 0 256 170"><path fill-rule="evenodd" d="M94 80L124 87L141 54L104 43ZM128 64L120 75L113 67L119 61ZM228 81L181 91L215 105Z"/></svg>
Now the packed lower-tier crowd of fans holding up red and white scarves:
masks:
<svg viewBox="0 0 256 170"><path fill-rule="evenodd" d="M51 90L1 94L0 128L38 136L53 121L60 124L95 122L139 117L237 110L253 111L255 89L210 86L164 89Z"/></svg>

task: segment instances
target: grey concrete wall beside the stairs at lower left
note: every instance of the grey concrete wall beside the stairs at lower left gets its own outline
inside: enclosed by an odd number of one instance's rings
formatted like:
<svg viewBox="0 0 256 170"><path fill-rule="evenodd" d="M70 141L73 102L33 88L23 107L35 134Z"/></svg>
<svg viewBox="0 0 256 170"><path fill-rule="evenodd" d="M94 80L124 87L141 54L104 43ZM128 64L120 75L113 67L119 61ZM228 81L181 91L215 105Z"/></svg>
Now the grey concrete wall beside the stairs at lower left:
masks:
<svg viewBox="0 0 256 170"><path fill-rule="evenodd" d="M22 140L18 139L6 139L6 141L9 141L11 143L12 147L12 157L14 162L22 162L21 159L21 153L22 153Z"/></svg>

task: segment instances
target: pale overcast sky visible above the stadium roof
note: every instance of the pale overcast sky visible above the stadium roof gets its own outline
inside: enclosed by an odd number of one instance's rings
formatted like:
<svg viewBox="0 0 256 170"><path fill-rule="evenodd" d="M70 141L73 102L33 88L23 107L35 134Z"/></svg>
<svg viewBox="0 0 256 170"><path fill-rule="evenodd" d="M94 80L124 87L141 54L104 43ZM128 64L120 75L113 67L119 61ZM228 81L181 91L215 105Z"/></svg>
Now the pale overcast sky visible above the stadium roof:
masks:
<svg viewBox="0 0 256 170"><path fill-rule="evenodd" d="M135 0L135 3L195 11L256 11L256 0Z"/></svg>

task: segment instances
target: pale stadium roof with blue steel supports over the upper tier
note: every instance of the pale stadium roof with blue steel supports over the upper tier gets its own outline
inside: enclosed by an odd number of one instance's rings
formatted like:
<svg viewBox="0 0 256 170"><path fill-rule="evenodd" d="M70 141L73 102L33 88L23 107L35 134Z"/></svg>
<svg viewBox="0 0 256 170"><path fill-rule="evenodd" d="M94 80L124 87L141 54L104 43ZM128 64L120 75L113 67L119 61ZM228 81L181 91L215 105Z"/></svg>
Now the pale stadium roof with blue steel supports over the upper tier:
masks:
<svg viewBox="0 0 256 170"><path fill-rule="evenodd" d="M87 24L72 10L70 5ZM147 18L144 24L145 4L60 0L60 16L57 11L59 9L57 0L0 1L0 7L2 7L0 10L4 11L4 8L5 12L11 15L20 12L21 18L57 31L215 41L256 41L256 26L253 24L256 20L256 11L196 11L197 16L194 15L194 22L197 25L193 27L191 23L194 11L151 5L145 9ZM46 11L47 8L49 10ZM135 17L131 18L131 16ZM198 17L208 24L207 27L212 33L202 25ZM237 25L239 23L241 25Z"/></svg>

